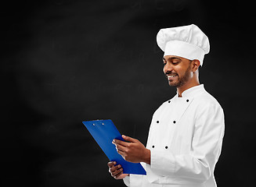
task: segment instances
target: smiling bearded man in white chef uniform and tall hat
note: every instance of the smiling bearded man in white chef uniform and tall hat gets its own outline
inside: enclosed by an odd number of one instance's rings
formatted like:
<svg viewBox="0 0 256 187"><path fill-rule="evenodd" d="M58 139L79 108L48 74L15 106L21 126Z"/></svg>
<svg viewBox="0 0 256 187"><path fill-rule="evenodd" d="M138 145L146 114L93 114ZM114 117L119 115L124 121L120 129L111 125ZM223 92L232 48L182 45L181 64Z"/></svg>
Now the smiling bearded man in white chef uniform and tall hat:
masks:
<svg viewBox="0 0 256 187"><path fill-rule="evenodd" d="M157 44L164 51L164 74L177 94L153 114L146 147L128 136L114 139L126 161L142 163L146 175L109 171L128 186L214 187L215 164L224 136L222 107L200 84L198 69L210 51L207 36L196 25L161 29Z"/></svg>

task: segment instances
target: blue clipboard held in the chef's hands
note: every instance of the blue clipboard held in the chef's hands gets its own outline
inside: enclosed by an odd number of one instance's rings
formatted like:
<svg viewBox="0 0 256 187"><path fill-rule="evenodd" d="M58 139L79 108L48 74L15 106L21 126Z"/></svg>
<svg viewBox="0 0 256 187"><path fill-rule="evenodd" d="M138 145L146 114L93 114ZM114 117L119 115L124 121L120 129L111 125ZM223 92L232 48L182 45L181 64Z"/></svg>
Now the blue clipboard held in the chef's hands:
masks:
<svg viewBox="0 0 256 187"><path fill-rule="evenodd" d="M124 158L117 153L116 146L112 143L113 139L125 140L110 119L85 121L83 124L104 151L106 157L108 157L110 161L116 161L117 164L121 164L124 169L124 174L146 175L146 171L141 164L125 161Z"/></svg>

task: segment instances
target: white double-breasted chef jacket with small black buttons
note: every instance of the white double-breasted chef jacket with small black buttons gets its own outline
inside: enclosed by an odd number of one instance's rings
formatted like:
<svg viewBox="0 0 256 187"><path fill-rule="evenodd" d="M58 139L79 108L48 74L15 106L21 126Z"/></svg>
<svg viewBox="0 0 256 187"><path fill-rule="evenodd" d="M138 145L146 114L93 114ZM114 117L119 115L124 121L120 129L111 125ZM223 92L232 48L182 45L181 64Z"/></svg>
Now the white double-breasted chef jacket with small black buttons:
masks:
<svg viewBox="0 0 256 187"><path fill-rule="evenodd" d="M222 149L224 113L218 101L193 86L154 112L146 148L146 175L130 175L132 187L215 187L215 164Z"/></svg>

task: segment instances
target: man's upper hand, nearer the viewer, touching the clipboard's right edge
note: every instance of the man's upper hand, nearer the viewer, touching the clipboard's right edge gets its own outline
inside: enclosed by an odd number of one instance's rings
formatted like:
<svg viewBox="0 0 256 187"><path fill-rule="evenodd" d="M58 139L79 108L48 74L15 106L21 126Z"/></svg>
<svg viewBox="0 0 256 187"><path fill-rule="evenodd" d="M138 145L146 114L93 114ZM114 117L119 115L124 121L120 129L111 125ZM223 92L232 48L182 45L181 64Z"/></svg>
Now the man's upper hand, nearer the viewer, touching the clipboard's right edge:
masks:
<svg viewBox="0 0 256 187"><path fill-rule="evenodd" d="M133 163L146 162L150 164L150 150L139 142L138 139L133 139L129 136L122 136L124 140L113 139L114 145L117 148L117 153L121 154L125 161Z"/></svg>

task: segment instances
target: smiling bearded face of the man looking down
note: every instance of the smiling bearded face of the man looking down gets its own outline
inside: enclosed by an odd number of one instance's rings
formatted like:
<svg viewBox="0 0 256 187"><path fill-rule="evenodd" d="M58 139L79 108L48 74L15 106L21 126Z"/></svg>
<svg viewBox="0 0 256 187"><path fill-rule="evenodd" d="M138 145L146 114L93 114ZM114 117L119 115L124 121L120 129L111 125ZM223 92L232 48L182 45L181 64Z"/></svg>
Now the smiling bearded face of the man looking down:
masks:
<svg viewBox="0 0 256 187"><path fill-rule="evenodd" d="M167 76L170 86L180 87L188 83L193 77L191 62L189 59L166 55L164 61L164 74Z"/></svg>

